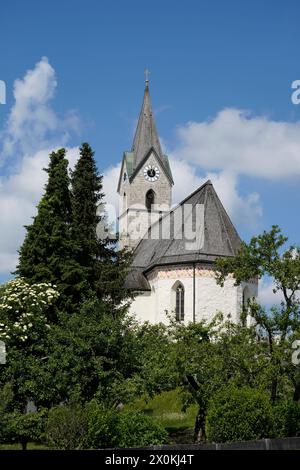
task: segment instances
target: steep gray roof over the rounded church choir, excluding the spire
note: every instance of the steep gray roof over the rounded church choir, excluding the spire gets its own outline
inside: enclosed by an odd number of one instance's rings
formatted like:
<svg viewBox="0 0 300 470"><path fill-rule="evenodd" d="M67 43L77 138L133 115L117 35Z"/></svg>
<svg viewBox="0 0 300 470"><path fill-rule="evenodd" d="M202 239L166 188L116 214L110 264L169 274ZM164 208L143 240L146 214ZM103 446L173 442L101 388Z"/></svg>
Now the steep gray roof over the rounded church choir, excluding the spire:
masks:
<svg viewBox="0 0 300 470"><path fill-rule="evenodd" d="M203 243L201 242L203 232L197 230L193 246L184 236L178 239L178 224L174 224L180 209L186 204L189 205L189 210L184 212L182 224L183 226L191 224L194 230L196 205L204 205ZM168 226L168 223L170 223L170 237L163 239L164 225ZM151 232L159 234L159 238L151 239ZM241 239L211 181L207 181L149 228L146 236L134 251L132 270L128 274L126 287L134 290L149 290L150 286L145 274L155 266L193 262L213 263L217 257L234 256L240 244Z"/></svg>

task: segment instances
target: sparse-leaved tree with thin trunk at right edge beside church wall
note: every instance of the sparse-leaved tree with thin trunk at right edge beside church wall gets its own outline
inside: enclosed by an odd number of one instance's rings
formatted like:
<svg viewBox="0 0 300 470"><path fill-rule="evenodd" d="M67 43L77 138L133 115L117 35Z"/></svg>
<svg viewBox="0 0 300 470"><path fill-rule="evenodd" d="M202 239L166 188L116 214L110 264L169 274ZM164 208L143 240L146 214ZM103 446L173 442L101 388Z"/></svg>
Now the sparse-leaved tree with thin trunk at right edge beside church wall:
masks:
<svg viewBox="0 0 300 470"><path fill-rule="evenodd" d="M249 244L242 243L234 258L222 258L216 262L216 279L220 285L229 274L233 274L236 284L253 278L267 276L273 282L273 292L282 296L280 305L272 306L269 311L254 300L249 302L249 315L255 320L259 341L267 346L270 362L269 390L273 402L282 394L282 377L291 381L294 399L300 399L299 370L287 366L286 349L290 338L300 331L300 248L285 248L287 238L278 226L269 232L253 237Z"/></svg>

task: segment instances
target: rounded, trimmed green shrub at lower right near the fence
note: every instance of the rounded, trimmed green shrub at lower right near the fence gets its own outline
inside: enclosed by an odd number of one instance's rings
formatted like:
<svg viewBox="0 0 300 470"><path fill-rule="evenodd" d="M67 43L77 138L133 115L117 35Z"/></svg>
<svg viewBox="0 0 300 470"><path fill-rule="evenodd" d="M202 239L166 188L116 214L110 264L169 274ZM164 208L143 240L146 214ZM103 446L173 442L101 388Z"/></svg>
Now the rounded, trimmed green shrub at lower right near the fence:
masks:
<svg viewBox="0 0 300 470"><path fill-rule="evenodd" d="M261 439L271 437L272 432L270 400L259 390L226 386L209 404L206 434L210 441Z"/></svg>

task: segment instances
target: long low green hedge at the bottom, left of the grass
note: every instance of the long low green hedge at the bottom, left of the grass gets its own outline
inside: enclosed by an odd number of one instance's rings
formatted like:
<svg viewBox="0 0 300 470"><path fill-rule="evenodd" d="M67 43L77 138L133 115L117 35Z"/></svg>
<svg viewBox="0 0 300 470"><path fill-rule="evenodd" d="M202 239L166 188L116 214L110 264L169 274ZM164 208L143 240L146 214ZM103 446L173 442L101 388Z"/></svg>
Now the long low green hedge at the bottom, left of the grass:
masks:
<svg viewBox="0 0 300 470"><path fill-rule="evenodd" d="M136 411L118 412L96 400L52 408L46 427L47 442L56 449L99 449L161 444L166 431Z"/></svg>

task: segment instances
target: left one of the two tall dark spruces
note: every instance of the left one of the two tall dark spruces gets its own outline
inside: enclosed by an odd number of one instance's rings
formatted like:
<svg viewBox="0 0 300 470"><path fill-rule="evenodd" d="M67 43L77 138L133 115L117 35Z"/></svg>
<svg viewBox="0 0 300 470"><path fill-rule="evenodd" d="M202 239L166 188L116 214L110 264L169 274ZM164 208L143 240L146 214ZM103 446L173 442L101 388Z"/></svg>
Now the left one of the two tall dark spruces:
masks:
<svg viewBox="0 0 300 470"><path fill-rule="evenodd" d="M31 283L51 282L58 286L61 302L66 305L80 300L85 279L74 259L71 238L71 198L68 160L65 149L50 154L45 169L48 182L37 206L33 223L26 226L26 236L19 251L16 273Z"/></svg>

